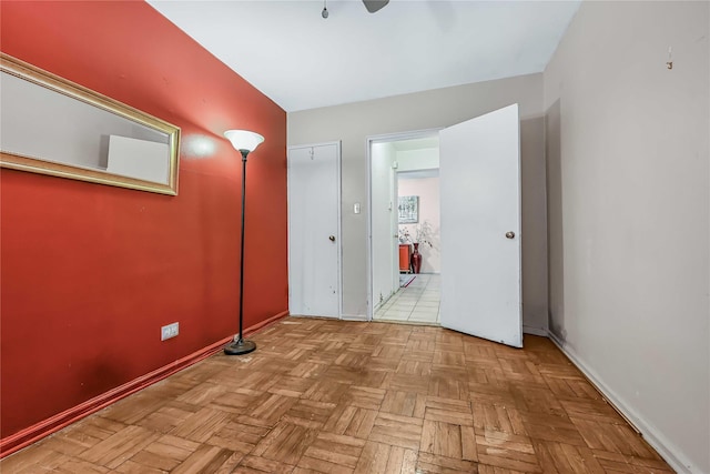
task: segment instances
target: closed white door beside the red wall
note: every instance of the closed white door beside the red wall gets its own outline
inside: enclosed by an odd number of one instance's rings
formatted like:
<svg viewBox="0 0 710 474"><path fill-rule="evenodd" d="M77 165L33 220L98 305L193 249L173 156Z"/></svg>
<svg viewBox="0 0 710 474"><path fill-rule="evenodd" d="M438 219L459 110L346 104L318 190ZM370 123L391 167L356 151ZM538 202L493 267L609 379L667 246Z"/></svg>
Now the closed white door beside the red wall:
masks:
<svg viewBox="0 0 710 474"><path fill-rule="evenodd" d="M288 311L341 315L341 150L288 149Z"/></svg>

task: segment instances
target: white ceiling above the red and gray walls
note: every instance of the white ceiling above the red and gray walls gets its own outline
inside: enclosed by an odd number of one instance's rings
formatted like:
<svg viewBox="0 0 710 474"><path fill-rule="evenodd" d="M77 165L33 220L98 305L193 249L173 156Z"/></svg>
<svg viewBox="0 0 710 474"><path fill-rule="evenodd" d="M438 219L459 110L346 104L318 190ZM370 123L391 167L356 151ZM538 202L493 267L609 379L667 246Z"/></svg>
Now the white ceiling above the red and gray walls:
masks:
<svg viewBox="0 0 710 474"><path fill-rule="evenodd" d="M148 0L285 111L541 72L579 0Z"/></svg>

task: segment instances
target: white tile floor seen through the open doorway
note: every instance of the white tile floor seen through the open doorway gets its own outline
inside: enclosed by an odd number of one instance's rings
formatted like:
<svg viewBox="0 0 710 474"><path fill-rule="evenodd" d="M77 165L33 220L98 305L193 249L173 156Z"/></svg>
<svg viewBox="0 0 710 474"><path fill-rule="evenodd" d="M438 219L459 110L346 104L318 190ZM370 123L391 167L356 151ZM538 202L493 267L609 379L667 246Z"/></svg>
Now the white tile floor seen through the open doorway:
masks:
<svg viewBox="0 0 710 474"><path fill-rule="evenodd" d="M440 275L418 273L407 288L400 288L374 315L376 321L406 321L439 324Z"/></svg>

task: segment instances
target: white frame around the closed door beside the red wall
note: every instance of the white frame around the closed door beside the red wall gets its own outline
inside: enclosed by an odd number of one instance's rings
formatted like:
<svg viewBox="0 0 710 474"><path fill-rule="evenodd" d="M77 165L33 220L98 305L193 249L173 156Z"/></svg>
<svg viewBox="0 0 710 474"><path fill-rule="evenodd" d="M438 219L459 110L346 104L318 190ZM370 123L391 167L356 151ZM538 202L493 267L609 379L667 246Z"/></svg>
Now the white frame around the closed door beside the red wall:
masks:
<svg viewBox="0 0 710 474"><path fill-rule="evenodd" d="M343 319L343 231L342 231L342 222L343 222L343 190L342 190L342 181L343 181L343 171L342 171L342 143L339 140L337 141L328 141L328 142L318 142L318 143L306 143L306 144L297 144L290 145L286 148L286 215L288 218L287 225L287 235L286 242L288 245L288 309L291 311L291 150L298 150L304 148L315 148L315 147L326 147L326 145L335 145L336 149L336 159L335 159L335 169L337 173L337 182L336 182L336 199L337 199L337 230L335 235L335 242L337 243L337 314L336 317L338 320Z"/></svg>

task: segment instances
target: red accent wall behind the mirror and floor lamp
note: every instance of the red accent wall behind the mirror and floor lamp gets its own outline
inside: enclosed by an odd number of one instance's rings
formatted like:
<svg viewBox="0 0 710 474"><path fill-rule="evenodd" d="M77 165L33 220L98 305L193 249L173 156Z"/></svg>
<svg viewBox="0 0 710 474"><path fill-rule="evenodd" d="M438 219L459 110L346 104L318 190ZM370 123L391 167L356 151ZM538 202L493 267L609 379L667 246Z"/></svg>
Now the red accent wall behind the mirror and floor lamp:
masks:
<svg viewBox="0 0 710 474"><path fill-rule="evenodd" d="M3 52L182 129L179 195L0 171L0 432L77 406L287 310L286 114L141 1L3 1ZM57 120L62 120L58 118ZM185 144L213 143L196 158ZM37 131L42 139L42 131ZM180 335L160 341L160 326Z"/></svg>

